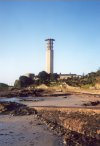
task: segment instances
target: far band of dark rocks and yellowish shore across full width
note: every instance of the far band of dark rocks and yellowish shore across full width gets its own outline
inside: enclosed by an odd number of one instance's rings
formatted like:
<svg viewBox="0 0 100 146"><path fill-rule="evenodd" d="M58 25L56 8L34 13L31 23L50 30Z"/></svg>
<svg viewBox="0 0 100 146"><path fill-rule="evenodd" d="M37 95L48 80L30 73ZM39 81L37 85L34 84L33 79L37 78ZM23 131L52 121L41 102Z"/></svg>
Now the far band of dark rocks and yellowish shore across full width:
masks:
<svg viewBox="0 0 100 146"><path fill-rule="evenodd" d="M55 87L54 87L55 88ZM60 87L58 87L59 89ZM23 89L13 89L13 90L5 90L0 91L0 98L1 97L58 97L58 96L68 96L68 95L85 95L85 96L94 96L94 97L100 97L100 90L87 90L87 89L53 89L51 87L48 87L48 89L45 88L23 88Z"/></svg>

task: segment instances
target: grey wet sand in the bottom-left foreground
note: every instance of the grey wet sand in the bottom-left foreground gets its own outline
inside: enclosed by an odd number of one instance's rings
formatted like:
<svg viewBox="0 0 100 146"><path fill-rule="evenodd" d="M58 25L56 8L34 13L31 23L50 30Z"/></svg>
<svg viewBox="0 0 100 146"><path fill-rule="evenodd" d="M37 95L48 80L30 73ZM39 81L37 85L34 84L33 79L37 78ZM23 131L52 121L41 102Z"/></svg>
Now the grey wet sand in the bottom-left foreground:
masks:
<svg viewBox="0 0 100 146"><path fill-rule="evenodd" d="M0 115L0 146L63 146L62 139L33 115Z"/></svg>

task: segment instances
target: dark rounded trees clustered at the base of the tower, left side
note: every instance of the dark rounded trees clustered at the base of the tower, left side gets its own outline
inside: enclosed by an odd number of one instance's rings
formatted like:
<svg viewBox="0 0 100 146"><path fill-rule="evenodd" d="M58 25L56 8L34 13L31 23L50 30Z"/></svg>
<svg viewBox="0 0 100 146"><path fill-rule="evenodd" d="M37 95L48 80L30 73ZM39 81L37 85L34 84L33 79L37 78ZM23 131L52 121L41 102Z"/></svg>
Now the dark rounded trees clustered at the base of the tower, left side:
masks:
<svg viewBox="0 0 100 146"><path fill-rule="evenodd" d="M41 71L41 72L39 72L38 75L29 74L28 76L25 76L25 75L20 76L19 79L15 81L14 87L21 88L21 87L27 87L32 84L50 85L51 82L57 82L58 78L59 78L59 75L57 73L48 74L45 71Z"/></svg>

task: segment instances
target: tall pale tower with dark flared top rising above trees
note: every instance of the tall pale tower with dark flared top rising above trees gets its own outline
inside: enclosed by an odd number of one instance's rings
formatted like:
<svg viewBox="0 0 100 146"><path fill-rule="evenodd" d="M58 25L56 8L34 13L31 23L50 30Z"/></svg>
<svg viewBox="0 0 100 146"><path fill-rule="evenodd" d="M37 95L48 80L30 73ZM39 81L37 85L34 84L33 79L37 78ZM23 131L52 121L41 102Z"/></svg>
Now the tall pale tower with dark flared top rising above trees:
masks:
<svg viewBox="0 0 100 146"><path fill-rule="evenodd" d="M46 48L46 72L53 74L54 68L54 50L53 50L53 41L54 39L46 39L47 48Z"/></svg>

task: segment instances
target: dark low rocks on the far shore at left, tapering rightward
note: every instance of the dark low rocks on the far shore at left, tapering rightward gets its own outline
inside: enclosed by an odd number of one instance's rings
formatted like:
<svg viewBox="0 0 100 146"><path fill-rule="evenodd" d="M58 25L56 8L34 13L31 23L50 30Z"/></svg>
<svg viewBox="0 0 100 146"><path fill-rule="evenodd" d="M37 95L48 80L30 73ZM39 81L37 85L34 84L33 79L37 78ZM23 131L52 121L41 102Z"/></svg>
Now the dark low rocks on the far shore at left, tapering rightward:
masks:
<svg viewBox="0 0 100 146"><path fill-rule="evenodd" d="M14 89L14 90L8 90L8 91L0 91L0 97L47 97L47 96L66 96L70 95L71 93L57 93L49 90L43 90L43 89Z"/></svg>

